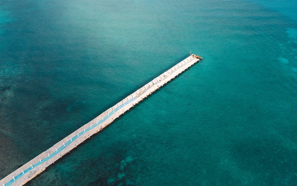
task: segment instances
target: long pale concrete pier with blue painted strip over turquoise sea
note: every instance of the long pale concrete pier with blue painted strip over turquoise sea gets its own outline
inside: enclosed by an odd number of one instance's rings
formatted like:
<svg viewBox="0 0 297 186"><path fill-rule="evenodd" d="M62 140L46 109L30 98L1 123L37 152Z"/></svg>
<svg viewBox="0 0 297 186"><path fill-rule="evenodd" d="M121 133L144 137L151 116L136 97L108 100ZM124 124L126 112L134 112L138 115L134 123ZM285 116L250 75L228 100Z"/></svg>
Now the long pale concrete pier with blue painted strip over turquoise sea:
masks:
<svg viewBox="0 0 297 186"><path fill-rule="evenodd" d="M168 71L159 75L140 89L136 90L119 103L110 107L108 110L94 118L89 123L83 125L70 135L50 147L48 150L42 152L37 157L33 158L25 165L21 166L5 178L0 180L0 186L20 186L24 185L33 179L35 176L44 171L48 166L53 164L56 160L69 153L72 149L77 147L84 140L91 135L104 129L114 119L124 114L139 101L143 100L159 87L165 85L171 79L175 78L178 74L181 74L187 68L195 64L202 59L195 54L190 55L186 59L182 60L178 64L174 65Z"/></svg>

